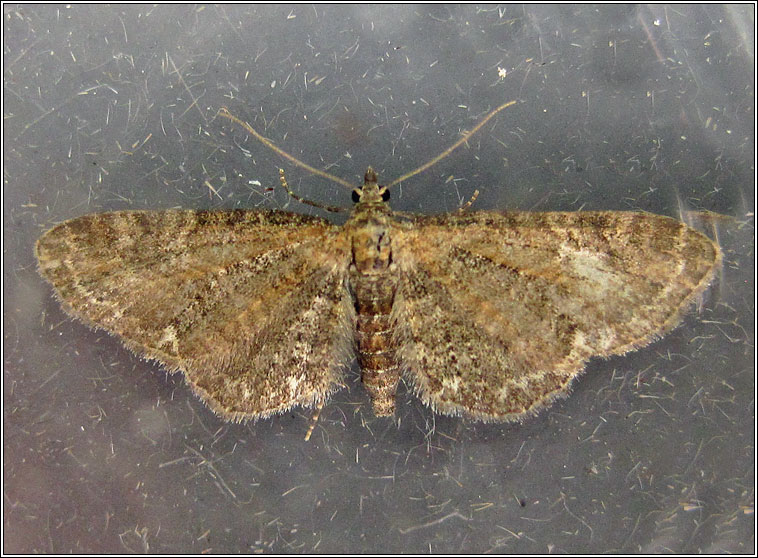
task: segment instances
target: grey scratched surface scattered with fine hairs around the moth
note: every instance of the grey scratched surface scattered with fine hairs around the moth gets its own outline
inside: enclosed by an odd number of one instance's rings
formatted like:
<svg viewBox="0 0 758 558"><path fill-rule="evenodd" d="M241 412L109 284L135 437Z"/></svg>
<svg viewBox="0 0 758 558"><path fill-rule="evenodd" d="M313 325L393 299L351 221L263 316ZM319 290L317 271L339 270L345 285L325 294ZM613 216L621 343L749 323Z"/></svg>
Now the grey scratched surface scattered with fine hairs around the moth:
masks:
<svg viewBox="0 0 758 558"><path fill-rule="evenodd" d="M754 549L754 8L4 6L5 552ZM628 210L718 238L664 339L523 424L311 412L226 424L62 312L52 224L111 209L349 205L216 118L389 181L515 99L393 207ZM211 189L208 185L211 185ZM701 211L719 215L702 218ZM135 294L138 296L138 294Z"/></svg>

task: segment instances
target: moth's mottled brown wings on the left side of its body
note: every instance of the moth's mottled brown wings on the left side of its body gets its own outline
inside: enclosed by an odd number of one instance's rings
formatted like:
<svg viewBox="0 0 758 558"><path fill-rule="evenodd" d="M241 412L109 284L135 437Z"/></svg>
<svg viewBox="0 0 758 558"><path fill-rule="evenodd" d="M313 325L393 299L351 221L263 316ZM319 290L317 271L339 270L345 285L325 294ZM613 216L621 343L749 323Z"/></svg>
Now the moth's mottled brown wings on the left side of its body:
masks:
<svg viewBox="0 0 758 558"><path fill-rule="evenodd" d="M189 248L191 246L191 248ZM349 241L279 211L121 211L37 243L64 308L120 336L231 420L322 401L352 356Z"/></svg>

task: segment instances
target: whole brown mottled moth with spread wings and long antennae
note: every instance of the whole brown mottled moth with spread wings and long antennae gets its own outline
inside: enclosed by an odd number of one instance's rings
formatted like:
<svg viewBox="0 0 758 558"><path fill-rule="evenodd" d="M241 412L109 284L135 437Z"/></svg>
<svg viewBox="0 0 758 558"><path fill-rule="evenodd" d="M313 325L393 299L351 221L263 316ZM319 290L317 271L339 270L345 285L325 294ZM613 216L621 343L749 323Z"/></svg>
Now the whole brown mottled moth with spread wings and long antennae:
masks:
<svg viewBox="0 0 758 558"><path fill-rule="evenodd" d="M182 371L227 420L321 405L356 356L377 416L402 377L439 413L503 421L565 395L588 359L671 330L721 261L665 216L395 213L389 191L369 167L342 226L274 210L85 215L42 235L39 271L66 312Z"/></svg>

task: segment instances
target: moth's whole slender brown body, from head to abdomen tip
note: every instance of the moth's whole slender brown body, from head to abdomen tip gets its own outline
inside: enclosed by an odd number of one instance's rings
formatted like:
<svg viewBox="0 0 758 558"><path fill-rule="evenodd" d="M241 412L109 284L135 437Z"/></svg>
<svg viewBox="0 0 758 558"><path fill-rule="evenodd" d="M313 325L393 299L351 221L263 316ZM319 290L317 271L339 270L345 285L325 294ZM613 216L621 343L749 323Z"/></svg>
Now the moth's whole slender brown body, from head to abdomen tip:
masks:
<svg viewBox="0 0 758 558"><path fill-rule="evenodd" d="M350 287L357 324L355 340L362 380L377 416L395 410L400 367L392 340L391 314L397 291L392 273L392 210L384 201L386 189L376 183L369 167L359 200L345 224L352 243Z"/></svg>

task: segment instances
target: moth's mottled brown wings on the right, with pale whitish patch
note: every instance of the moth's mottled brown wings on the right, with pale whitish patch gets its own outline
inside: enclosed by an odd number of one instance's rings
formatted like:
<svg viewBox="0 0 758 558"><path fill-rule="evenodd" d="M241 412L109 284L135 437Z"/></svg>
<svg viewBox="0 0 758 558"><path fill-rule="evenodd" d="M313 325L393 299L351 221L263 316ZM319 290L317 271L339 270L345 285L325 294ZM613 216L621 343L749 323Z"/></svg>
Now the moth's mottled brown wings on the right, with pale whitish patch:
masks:
<svg viewBox="0 0 758 558"><path fill-rule="evenodd" d="M436 410L517 419L564 394L590 357L674 327L720 257L644 213L418 217L393 231L397 354Z"/></svg>

